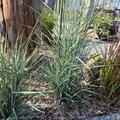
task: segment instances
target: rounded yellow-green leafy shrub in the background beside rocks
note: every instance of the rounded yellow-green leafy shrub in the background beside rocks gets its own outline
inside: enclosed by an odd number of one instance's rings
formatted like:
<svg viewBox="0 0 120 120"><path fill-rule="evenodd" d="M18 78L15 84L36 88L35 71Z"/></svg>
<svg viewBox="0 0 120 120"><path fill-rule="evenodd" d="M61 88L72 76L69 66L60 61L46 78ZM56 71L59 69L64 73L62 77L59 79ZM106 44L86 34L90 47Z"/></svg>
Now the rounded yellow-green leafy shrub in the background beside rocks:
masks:
<svg viewBox="0 0 120 120"><path fill-rule="evenodd" d="M112 16L103 11L97 12L92 18L92 24L99 33L100 37L106 37L109 35L109 29L112 24Z"/></svg>

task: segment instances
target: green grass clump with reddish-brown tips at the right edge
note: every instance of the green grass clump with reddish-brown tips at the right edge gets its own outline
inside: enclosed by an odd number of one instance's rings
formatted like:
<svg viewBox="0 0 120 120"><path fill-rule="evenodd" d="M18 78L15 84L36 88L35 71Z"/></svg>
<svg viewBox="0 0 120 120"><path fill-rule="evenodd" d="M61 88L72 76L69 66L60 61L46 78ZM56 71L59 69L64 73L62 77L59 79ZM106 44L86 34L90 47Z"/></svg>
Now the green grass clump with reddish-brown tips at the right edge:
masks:
<svg viewBox="0 0 120 120"><path fill-rule="evenodd" d="M108 49L100 71L100 94L102 101L117 104L120 102L120 43L113 43Z"/></svg>

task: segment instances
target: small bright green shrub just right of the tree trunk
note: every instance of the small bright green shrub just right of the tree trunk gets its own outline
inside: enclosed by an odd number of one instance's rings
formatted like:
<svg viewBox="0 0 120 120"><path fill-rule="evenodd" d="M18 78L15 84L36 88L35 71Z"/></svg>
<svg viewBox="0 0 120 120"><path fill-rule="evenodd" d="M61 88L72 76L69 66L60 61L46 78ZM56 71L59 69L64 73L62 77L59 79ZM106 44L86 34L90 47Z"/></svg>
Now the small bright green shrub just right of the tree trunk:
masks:
<svg viewBox="0 0 120 120"><path fill-rule="evenodd" d="M43 40L48 44L52 44L54 22L54 13L50 10L43 10L40 18L41 31L43 32Z"/></svg>

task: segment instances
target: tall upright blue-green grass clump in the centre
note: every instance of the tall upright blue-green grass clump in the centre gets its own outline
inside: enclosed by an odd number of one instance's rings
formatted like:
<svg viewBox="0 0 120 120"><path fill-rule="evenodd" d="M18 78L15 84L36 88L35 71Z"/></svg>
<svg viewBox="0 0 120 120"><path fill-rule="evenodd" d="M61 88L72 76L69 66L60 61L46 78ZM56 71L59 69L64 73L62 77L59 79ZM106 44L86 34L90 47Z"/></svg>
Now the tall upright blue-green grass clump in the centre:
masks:
<svg viewBox="0 0 120 120"><path fill-rule="evenodd" d="M48 47L53 56L50 64L43 65L42 69L44 80L53 88L55 102L58 105L65 102L75 107L76 103L83 100L83 91L85 91L80 85L82 78L78 80L76 76L84 68L81 61L85 62L87 58L87 42L83 38L92 15L86 21L84 6L71 12L72 1L69 5L67 2L67 0L56 2L55 14L58 19L56 19L56 27L53 32L54 45L52 48ZM76 4L79 6L80 3L76 1ZM67 17L65 17L66 13Z"/></svg>

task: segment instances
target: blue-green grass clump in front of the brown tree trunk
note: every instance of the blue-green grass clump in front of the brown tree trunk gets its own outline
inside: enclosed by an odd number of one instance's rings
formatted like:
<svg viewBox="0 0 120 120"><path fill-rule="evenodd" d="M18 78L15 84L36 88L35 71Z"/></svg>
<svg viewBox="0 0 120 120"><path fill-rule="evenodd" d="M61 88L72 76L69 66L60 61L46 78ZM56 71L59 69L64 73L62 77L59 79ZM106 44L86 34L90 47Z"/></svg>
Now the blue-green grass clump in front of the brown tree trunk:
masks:
<svg viewBox="0 0 120 120"><path fill-rule="evenodd" d="M18 43L11 55L5 51L0 53L0 119L12 116L11 119L18 120L20 106L32 98L32 88L24 83L31 80L35 56L35 51L28 56L27 49Z"/></svg>

